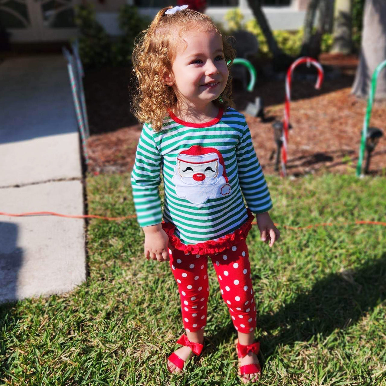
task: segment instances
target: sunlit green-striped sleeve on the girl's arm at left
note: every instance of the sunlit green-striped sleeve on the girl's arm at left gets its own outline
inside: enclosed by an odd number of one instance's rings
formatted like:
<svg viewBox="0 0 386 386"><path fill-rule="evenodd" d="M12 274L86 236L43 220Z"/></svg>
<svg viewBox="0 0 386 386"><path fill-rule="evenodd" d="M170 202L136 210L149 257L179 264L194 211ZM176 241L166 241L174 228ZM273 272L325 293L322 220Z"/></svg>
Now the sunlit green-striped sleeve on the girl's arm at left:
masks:
<svg viewBox="0 0 386 386"><path fill-rule="evenodd" d="M152 130L144 124L135 153L131 185L137 220L141 227L162 221L159 184L161 183L161 155L157 149Z"/></svg>

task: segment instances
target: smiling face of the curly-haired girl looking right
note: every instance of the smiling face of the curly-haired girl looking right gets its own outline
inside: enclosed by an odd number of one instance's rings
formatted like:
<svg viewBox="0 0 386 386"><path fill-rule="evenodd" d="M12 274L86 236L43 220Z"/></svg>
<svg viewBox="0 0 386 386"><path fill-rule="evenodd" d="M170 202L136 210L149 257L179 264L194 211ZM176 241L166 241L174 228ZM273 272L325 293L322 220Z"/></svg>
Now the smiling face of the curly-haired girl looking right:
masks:
<svg viewBox="0 0 386 386"><path fill-rule="evenodd" d="M176 33L178 33L176 31ZM215 32L188 30L176 47L172 71L164 81L176 93L179 103L205 107L217 99L227 85L229 71L222 39Z"/></svg>

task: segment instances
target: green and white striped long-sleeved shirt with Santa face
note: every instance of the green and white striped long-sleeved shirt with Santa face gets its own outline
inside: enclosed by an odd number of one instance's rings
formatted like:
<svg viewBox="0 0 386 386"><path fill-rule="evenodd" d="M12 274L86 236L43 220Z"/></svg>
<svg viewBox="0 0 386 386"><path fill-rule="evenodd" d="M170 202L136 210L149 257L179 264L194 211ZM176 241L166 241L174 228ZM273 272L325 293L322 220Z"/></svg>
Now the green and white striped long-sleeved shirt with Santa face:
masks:
<svg viewBox="0 0 386 386"><path fill-rule="evenodd" d="M197 244L230 234L247 220L243 195L254 213L272 208L244 115L233 108L221 113L201 125L168 117L159 132L143 125L131 176L141 227L163 217L183 244Z"/></svg>

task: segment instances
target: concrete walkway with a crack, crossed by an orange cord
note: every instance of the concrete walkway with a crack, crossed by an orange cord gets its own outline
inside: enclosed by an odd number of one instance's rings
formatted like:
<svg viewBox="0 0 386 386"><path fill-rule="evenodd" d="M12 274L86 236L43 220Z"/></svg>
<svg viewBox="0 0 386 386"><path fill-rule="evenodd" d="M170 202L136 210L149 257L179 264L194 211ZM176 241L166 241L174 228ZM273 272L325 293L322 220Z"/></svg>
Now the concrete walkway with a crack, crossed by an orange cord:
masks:
<svg viewBox="0 0 386 386"><path fill-rule="evenodd" d="M0 64L0 212L83 214L78 124L66 61ZM85 223L0 216L0 303L74 289L86 279Z"/></svg>

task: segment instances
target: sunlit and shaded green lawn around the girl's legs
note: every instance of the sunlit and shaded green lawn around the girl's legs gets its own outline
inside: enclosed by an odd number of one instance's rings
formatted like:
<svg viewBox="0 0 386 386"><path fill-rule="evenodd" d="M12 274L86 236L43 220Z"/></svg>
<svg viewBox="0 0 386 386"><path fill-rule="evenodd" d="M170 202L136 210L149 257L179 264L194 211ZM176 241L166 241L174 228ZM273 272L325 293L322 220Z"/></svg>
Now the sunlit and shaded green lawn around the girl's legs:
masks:
<svg viewBox="0 0 386 386"><path fill-rule="evenodd" d="M386 385L384 178L267 177L282 240L248 236L261 385ZM134 213L129 175L87 178L90 213ZM334 222L339 225L289 230ZM0 384L236 385L236 332L213 267L203 354L171 376L183 332L168 263L142 256L135 219L88 224L90 276L60 296L0 308Z"/></svg>

